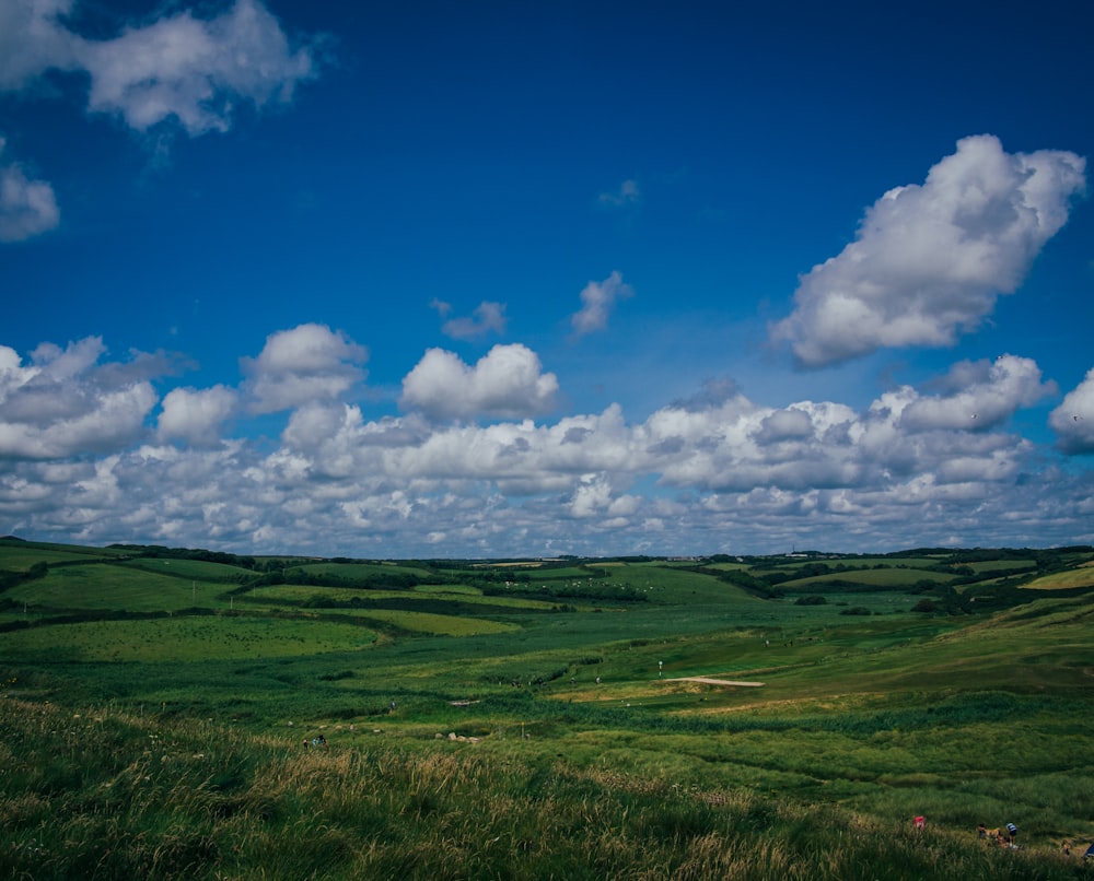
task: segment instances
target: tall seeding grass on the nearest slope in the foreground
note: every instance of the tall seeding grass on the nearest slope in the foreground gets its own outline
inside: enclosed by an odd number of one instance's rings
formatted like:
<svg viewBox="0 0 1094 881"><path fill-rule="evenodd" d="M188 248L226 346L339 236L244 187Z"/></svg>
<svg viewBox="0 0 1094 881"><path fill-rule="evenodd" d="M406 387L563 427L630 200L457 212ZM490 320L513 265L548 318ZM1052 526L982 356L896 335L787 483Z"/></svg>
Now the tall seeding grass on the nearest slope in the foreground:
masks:
<svg viewBox="0 0 1094 881"><path fill-rule="evenodd" d="M310 748L0 697L0 876L93 879L1074 879L830 804L485 744Z"/></svg>

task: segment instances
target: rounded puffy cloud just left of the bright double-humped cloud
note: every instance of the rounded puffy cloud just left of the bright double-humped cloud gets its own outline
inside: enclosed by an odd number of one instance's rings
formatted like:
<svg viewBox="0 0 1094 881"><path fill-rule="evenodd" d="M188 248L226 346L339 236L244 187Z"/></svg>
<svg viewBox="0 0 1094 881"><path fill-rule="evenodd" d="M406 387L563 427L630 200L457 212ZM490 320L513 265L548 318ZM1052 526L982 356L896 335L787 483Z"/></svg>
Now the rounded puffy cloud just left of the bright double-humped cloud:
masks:
<svg viewBox="0 0 1094 881"><path fill-rule="evenodd" d="M331 400L365 378L368 350L341 331L306 324L271 333L256 359L241 359L254 413L274 413Z"/></svg>

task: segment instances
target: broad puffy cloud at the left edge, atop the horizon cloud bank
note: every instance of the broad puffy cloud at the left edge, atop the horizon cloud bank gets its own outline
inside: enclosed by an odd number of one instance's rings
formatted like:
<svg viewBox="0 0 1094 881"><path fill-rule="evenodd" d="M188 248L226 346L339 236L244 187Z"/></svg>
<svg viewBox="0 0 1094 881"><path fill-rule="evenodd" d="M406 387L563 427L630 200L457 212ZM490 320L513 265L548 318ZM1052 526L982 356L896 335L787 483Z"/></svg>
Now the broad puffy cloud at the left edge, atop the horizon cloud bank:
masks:
<svg viewBox="0 0 1094 881"><path fill-rule="evenodd" d="M58 459L127 447L156 393L140 369L100 365L97 337L39 345L24 364L0 346L0 460Z"/></svg>

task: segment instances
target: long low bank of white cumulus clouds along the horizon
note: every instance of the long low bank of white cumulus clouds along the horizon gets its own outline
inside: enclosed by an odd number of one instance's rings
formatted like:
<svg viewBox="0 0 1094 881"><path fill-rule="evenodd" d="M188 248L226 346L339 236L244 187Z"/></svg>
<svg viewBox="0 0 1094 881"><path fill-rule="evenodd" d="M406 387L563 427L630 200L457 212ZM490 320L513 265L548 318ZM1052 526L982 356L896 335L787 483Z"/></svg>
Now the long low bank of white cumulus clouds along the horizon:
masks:
<svg viewBox="0 0 1094 881"><path fill-rule="evenodd" d="M319 325L271 334L238 393L259 379L292 389L284 431L216 442L247 418L231 388L176 388L152 432L163 359L110 361L97 338L28 359L0 346L0 522L88 542L401 556L427 541L500 556L1094 540L1094 477L1046 467L1002 427L1050 392L1017 356L955 364L863 409L771 407L718 380L640 422L618 404L539 422L557 384L523 346L475 365L432 350L407 376L409 412L375 419L337 393L362 354ZM319 392L303 400L287 377ZM964 423L967 403L989 414L982 427ZM508 415L434 421L484 412Z"/></svg>

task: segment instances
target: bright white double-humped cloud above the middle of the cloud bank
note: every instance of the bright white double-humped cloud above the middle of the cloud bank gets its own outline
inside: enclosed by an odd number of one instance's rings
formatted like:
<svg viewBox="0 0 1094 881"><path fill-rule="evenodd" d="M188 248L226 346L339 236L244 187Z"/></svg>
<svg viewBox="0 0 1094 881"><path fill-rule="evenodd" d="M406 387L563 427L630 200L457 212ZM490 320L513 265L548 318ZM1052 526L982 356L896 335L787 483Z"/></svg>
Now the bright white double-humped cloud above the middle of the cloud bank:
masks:
<svg viewBox="0 0 1094 881"><path fill-rule="evenodd" d="M555 404L558 379L519 343L493 346L470 367L458 355L430 349L403 380L401 403L432 419L535 415Z"/></svg>

